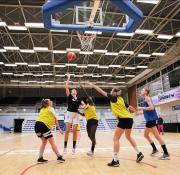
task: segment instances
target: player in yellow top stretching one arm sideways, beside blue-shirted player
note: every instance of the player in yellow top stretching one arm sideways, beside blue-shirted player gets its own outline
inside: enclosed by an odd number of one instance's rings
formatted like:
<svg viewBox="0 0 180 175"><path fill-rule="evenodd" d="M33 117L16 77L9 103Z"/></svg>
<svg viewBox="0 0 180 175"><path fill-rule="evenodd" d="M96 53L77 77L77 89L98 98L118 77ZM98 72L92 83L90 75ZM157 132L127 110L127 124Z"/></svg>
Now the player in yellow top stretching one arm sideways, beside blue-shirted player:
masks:
<svg viewBox="0 0 180 175"><path fill-rule="evenodd" d="M100 87L98 87L90 82L87 82L87 83L89 85L91 85L95 90L97 90L100 94L102 94L105 97L108 97L108 99L110 100L110 103L111 103L112 112L119 121L117 124L117 128L115 130L114 139L113 139L113 141L114 141L114 158L113 158L112 162L108 163L107 165L113 166L113 167L119 166L119 156L118 156L119 149L120 149L119 140L124 132L125 132L125 136L126 136L127 140L131 143L131 145L137 152L136 162L140 162L143 159L144 155L139 151L135 140L131 137L133 117L128 109L130 109L133 112L136 112L136 110L132 106L129 106L128 104L126 104L124 102L124 99L121 97L120 89L113 88L111 93L108 94L107 92L102 90Z"/></svg>

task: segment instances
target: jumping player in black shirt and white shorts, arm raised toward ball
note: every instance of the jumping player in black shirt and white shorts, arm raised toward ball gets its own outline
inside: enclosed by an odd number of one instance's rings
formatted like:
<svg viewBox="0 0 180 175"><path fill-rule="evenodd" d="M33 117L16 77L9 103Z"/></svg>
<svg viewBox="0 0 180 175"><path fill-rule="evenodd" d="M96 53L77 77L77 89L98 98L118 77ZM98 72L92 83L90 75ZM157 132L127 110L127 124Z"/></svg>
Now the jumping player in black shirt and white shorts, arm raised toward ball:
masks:
<svg viewBox="0 0 180 175"><path fill-rule="evenodd" d="M78 108L81 104L80 98L77 97L77 90L72 89L71 93L69 91L69 81L70 81L70 75L67 75L68 79L66 81L66 95L68 97L68 108L67 108L67 114L65 117L65 123L66 123L66 132L64 137L64 154L67 153L67 142L70 132L71 124L73 125L73 149L72 153L75 154L76 149L76 140L77 140L77 127L79 123L79 113Z"/></svg>

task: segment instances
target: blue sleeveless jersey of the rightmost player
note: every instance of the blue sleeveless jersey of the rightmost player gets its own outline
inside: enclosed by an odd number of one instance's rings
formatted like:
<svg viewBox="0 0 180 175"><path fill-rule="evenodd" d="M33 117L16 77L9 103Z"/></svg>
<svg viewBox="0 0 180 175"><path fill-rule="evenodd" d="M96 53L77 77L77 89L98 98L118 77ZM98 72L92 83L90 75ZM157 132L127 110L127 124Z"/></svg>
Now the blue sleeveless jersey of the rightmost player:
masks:
<svg viewBox="0 0 180 175"><path fill-rule="evenodd" d="M144 107L149 107L148 103L144 101L143 104ZM146 121L155 121L158 119L158 115L156 113L156 110L143 110L144 118Z"/></svg>

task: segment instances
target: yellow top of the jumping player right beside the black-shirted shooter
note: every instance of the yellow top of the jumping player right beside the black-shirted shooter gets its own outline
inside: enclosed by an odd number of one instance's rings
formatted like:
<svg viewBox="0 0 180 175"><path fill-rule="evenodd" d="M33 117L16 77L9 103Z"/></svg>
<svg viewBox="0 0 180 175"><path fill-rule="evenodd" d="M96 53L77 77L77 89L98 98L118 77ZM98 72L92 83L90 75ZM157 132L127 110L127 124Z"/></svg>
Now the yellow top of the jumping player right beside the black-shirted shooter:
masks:
<svg viewBox="0 0 180 175"><path fill-rule="evenodd" d="M90 119L99 120L96 113L96 107L94 105L87 104L84 108L84 115L87 121Z"/></svg>

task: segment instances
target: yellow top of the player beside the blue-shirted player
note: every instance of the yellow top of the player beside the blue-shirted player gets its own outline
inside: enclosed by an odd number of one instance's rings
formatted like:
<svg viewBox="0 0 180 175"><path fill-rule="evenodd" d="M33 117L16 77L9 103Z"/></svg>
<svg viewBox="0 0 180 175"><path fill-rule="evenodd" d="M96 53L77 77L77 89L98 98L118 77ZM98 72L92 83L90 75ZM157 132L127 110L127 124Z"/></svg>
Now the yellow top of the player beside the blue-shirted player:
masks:
<svg viewBox="0 0 180 175"><path fill-rule="evenodd" d="M122 97L117 97L117 101L114 103L111 102L111 109L116 118L133 118Z"/></svg>

